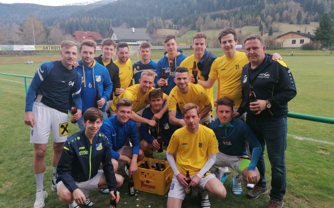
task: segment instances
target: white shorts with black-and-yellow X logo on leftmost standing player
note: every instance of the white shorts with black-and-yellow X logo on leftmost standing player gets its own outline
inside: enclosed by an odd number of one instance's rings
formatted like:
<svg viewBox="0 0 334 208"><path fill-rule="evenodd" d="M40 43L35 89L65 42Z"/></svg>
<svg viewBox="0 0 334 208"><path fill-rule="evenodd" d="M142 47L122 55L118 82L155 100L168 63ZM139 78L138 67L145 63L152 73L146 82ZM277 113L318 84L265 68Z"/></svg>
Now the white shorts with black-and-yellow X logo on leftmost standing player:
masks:
<svg viewBox="0 0 334 208"><path fill-rule="evenodd" d="M64 142L68 135L68 116L41 102L35 101L32 107L35 126L30 128L30 143L46 144L50 130L54 142Z"/></svg>

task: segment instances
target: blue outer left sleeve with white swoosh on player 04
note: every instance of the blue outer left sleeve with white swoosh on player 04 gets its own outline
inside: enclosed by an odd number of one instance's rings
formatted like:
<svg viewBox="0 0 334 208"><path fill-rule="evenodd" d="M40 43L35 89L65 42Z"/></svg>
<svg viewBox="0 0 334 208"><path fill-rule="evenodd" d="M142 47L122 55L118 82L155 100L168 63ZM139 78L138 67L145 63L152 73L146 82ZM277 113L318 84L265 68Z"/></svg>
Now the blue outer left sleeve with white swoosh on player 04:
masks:
<svg viewBox="0 0 334 208"><path fill-rule="evenodd" d="M32 111L36 92L46 76L49 74L52 67L52 62L44 62L38 67L34 78L29 85L28 92L25 98L25 111Z"/></svg>

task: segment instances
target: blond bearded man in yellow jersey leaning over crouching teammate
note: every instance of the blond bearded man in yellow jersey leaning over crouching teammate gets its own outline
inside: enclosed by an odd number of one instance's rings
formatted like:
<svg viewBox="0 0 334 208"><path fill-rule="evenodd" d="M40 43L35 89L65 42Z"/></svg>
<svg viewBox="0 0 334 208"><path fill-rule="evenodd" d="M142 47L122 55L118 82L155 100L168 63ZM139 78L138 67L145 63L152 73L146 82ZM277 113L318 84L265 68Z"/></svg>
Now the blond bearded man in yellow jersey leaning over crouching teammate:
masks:
<svg viewBox="0 0 334 208"><path fill-rule="evenodd" d="M154 78L156 74L152 71L144 71L141 74L141 78L139 79L140 84L133 85L127 88L120 96L116 97L112 102L111 114L115 114L116 110L116 103L121 98L128 98L133 102L133 113L131 114L130 119L137 122L137 126L140 126L140 123L146 123L150 126L155 126L157 124L156 120L159 120L164 113L168 111L168 96L166 94L163 95L163 99L165 102L165 106L160 110L158 113L154 114L151 120L146 119L138 115L136 112L140 111L141 109L145 108L146 105L149 103L148 96L149 92L154 89ZM138 125L139 123L139 125Z"/></svg>

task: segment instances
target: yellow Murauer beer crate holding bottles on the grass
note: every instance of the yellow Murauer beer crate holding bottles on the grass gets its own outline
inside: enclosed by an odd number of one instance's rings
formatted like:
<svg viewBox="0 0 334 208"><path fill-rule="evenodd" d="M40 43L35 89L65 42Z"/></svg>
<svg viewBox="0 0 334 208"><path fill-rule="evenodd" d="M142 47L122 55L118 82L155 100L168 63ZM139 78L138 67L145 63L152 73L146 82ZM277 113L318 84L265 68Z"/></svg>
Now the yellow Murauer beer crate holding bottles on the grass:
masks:
<svg viewBox="0 0 334 208"><path fill-rule="evenodd" d="M150 169L140 168L140 165L145 162L145 160L147 160ZM166 168L164 171L154 170L152 165L155 167L157 161L159 167L162 162L165 164ZM133 176L135 189L153 194L165 195L172 183L173 177L173 171L169 166L168 161L145 157L137 162L137 166L138 172Z"/></svg>

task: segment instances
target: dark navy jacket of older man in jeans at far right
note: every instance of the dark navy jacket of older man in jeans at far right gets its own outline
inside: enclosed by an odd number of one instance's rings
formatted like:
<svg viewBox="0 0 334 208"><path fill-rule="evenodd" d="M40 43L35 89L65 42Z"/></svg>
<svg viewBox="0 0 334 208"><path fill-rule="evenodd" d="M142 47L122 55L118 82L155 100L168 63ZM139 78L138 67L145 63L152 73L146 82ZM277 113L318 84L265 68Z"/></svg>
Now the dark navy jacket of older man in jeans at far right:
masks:
<svg viewBox="0 0 334 208"><path fill-rule="evenodd" d="M249 110L249 85L253 86L257 99L268 100L271 108L264 109L258 115ZM281 60L273 61L268 54L254 70L251 63L242 67L241 87L243 98L237 112L242 115L247 111L247 117L286 118L288 102L297 94L295 80L287 65Z"/></svg>

